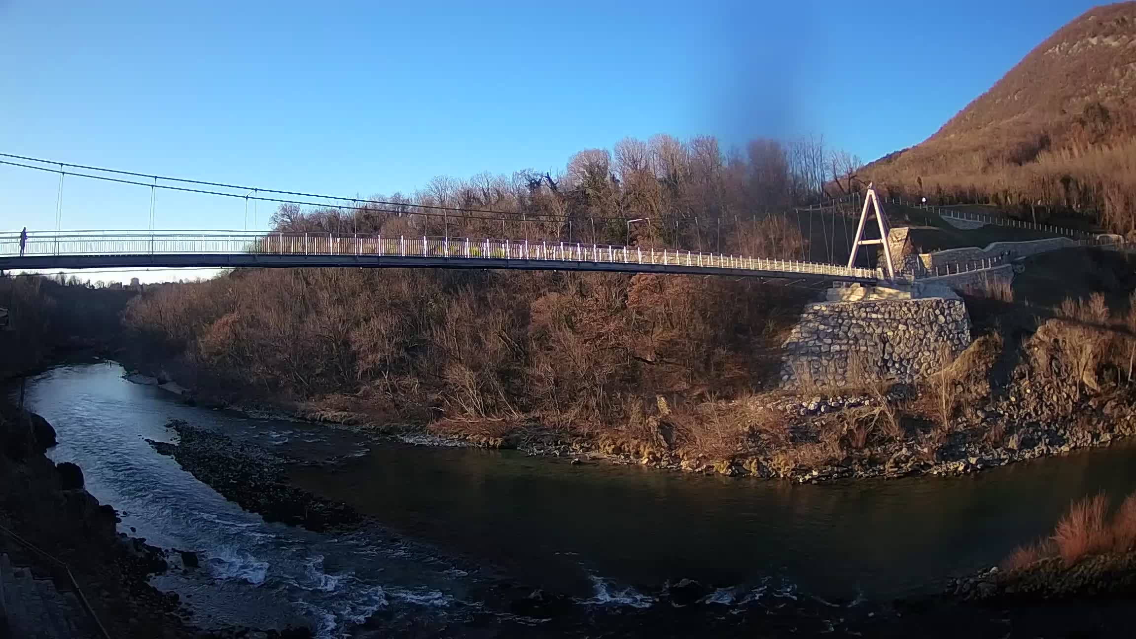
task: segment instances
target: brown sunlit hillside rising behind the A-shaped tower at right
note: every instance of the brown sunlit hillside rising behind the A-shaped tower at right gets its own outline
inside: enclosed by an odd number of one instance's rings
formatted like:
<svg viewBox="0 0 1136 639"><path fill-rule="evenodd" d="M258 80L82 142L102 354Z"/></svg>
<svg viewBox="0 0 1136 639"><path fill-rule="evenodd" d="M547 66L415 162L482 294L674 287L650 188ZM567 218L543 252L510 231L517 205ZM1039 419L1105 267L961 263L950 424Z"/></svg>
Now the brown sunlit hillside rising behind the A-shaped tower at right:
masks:
<svg viewBox="0 0 1136 639"><path fill-rule="evenodd" d="M1136 230L1136 2L1087 11L935 135L863 173L908 196L1041 202L1038 215Z"/></svg>

